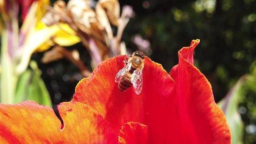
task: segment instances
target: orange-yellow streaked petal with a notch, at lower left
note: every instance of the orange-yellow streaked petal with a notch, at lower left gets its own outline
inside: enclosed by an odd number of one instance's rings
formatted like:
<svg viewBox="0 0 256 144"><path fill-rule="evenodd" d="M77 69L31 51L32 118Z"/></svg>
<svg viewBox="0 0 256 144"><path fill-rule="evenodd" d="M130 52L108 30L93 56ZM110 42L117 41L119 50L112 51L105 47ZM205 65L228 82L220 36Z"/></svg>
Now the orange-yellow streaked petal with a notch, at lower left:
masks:
<svg viewBox="0 0 256 144"><path fill-rule="evenodd" d="M117 143L109 123L79 102L58 106L64 128L52 108L34 101L0 104L0 143Z"/></svg>

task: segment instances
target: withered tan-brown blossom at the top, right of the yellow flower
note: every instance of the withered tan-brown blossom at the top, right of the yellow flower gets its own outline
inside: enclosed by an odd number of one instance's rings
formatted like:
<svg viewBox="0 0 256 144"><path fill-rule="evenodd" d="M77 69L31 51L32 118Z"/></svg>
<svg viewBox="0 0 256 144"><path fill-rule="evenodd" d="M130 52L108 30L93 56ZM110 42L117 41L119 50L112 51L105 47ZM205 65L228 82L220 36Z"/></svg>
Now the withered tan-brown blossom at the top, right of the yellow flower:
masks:
<svg viewBox="0 0 256 144"><path fill-rule="evenodd" d="M96 7L96 11L98 9L98 13L100 14L96 14L96 12L89 7L88 0L70 0L67 6L65 6L63 1L55 3L54 10L49 9L49 12L51 12L50 18L52 19L52 24L56 24L57 21L64 19L65 21L63 22L69 24L76 32L82 44L90 53L92 53L92 48L90 48L92 45L89 45L88 41L93 39L99 55L101 56L101 60L106 60L110 58L110 39L113 38L109 19L111 19L115 25L118 25L120 7L117 0L99 0L99 4ZM64 55L64 57L66 56Z"/></svg>

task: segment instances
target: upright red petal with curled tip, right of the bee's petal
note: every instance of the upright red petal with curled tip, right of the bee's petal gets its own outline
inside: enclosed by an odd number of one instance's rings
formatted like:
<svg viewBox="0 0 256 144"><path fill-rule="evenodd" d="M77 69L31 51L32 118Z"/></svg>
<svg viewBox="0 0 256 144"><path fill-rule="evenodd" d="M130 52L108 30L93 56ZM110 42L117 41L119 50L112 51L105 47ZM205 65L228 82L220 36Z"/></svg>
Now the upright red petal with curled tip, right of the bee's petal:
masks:
<svg viewBox="0 0 256 144"><path fill-rule="evenodd" d="M216 105L210 83L193 65L194 48L182 48L179 64L170 72L177 85L176 114L183 144L231 144L226 118Z"/></svg>

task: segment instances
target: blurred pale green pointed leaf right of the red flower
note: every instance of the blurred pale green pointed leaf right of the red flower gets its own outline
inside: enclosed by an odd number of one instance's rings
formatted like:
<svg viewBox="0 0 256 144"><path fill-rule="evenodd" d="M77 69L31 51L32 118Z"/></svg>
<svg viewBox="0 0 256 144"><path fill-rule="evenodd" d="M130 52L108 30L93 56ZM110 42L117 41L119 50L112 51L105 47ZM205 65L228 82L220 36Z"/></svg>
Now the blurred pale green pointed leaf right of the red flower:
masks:
<svg viewBox="0 0 256 144"><path fill-rule="evenodd" d="M227 96L218 103L219 108L224 112L228 125L230 126L232 144L243 144L244 123L238 111L238 107L243 92L242 87L244 80L245 76L241 77Z"/></svg>

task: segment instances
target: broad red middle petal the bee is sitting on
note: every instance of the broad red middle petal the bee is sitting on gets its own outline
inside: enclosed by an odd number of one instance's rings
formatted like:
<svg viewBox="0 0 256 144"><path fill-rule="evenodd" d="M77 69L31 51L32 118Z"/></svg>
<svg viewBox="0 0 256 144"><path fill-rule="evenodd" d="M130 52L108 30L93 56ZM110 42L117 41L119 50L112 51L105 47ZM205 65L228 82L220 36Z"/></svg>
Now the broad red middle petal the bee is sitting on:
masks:
<svg viewBox="0 0 256 144"><path fill-rule="evenodd" d="M116 135L124 123L136 121L148 125L152 136L158 133L163 141L177 142L176 86L170 75L160 64L146 57L142 92L136 95L133 86L121 92L115 76L125 65L124 57L110 58L99 64L92 76L77 84L73 101L98 111L110 122Z"/></svg>

